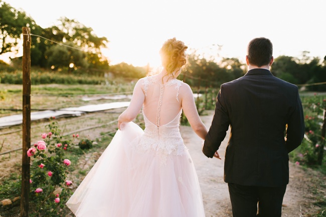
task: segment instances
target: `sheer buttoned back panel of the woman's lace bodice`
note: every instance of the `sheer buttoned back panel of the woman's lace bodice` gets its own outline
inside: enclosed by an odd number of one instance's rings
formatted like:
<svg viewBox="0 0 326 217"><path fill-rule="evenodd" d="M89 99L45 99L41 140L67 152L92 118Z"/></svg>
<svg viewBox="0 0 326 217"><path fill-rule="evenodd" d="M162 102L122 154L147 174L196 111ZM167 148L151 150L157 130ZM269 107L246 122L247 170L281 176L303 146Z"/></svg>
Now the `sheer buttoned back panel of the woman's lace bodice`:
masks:
<svg viewBox="0 0 326 217"><path fill-rule="evenodd" d="M181 110L179 101L179 88L182 81L170 79L167 83L152 77L146 77L143 81L145 101L143 113L145 117L157 127L173 121Z"/></svg>

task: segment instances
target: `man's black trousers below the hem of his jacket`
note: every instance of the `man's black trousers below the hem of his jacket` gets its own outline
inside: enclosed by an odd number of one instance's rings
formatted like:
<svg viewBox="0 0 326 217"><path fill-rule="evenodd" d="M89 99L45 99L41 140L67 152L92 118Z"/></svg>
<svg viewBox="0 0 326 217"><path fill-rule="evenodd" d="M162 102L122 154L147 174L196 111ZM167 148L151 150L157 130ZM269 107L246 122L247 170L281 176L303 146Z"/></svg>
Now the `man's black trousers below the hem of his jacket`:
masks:
<svg viewBox="0 0 326 217"><path fill-rule="evenodd" d="M233 217L281 217L286 185L262 187L228 183L228 186Z"/></svg>

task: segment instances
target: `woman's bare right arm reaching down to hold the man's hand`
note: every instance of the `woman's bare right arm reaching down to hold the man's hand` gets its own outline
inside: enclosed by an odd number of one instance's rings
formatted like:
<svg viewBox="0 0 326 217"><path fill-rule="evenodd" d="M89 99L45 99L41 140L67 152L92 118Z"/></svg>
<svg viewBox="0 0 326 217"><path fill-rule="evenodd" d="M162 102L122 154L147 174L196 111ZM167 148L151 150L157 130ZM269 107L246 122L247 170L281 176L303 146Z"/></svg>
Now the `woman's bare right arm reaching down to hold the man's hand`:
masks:
<svg viewBox="0 0 326 217"><path fill-rule="evenodd" d="M182 87L180 87L180 91L182 95L181 105L191 128L199 137L205 139L205 136L207 135L207 128L199 117L193 91L188 84L183 84Z"/></svg>

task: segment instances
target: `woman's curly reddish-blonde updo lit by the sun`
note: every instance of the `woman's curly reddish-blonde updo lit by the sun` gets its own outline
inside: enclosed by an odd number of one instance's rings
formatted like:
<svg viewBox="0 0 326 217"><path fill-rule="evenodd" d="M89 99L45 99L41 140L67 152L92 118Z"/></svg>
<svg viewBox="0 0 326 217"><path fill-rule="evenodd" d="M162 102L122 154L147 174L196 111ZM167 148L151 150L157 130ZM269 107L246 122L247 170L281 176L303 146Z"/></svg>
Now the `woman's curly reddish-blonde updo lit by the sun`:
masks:
<svg viewBox="0 0 326 217"><path fill-rule="evenodd" d="M185 43L173 38L167 40L159 50L162 66L167 70L169 76L175 77L173 72L185 67L187 63L185 51L187 48Z"/></svg>

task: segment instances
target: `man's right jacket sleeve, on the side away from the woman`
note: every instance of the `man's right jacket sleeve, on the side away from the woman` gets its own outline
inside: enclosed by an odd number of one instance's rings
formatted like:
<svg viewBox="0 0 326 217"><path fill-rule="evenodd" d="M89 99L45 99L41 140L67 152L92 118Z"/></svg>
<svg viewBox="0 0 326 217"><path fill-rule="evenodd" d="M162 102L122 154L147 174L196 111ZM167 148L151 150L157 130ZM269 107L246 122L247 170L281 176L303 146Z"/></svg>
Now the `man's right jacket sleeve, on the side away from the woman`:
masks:
<svg viewBox="0 0 326 217"><path fill-rule="evenodd" d="M287 123L286 141L285 141L287 151L291 152L296 147L298 147L302 142L303 136L304 136L303 109L302 109L302 103L299 96L299 92L297 91L296 106L294 108L294 111L290 115L290 118Z"/></svg>

